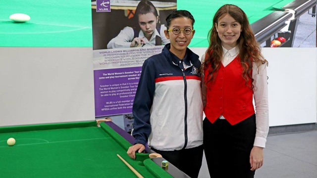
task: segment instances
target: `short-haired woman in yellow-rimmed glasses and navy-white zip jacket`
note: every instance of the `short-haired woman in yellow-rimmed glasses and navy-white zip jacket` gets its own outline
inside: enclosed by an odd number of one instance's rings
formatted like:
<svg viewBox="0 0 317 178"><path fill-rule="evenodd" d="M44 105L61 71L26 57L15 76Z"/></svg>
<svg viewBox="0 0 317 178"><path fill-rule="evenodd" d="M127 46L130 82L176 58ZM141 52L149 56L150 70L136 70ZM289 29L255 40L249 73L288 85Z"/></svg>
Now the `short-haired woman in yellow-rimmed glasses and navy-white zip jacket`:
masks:
<svg viewBox="0 0 317 178"><path fill-rule="evenodd" d="M145 60L133 103L135 144L127 154L135 159L145 145L197 178L203 159L203 102L199 56L187 46L195 30L187 10L166 18L162 52Z"/></svg>

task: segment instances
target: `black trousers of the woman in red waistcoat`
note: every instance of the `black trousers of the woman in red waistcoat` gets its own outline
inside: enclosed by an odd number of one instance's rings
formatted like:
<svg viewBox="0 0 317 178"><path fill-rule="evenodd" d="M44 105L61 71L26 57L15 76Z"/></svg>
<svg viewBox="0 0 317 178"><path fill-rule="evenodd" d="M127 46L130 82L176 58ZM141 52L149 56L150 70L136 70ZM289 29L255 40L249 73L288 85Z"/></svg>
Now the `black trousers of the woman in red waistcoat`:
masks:
<svg viewBox="0 0 317 178"><path fill-rule="evenodd" d="M225 119L204 120L204 150L211 178L254 178L250 153L256 135L256 116L230 125Z"/></svg>

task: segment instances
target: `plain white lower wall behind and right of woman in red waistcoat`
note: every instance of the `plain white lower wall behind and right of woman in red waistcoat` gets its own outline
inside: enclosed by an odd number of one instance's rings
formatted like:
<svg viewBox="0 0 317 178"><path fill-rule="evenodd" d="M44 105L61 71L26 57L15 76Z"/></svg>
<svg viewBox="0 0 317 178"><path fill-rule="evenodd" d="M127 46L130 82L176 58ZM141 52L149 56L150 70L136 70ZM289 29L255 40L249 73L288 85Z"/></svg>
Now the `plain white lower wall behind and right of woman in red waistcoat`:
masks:
<svg viewBox="0 0 317 178"><path fill-rule="evenodd" d="M206 48L191 48L202 56ZM317 48L262 48L268 60L269 126L317 123Z"/></svg>

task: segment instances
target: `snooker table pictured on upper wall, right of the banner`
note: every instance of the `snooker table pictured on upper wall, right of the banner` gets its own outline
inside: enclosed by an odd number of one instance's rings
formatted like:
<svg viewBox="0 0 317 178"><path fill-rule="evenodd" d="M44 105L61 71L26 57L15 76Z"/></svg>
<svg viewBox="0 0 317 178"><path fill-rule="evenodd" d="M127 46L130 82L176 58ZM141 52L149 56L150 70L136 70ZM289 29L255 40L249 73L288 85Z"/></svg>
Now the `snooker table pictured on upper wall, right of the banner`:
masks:
<svg viewBox="0 0 317 178"><path fill-rule="evenodd" d="M271 37L291 21L290 35L285 47L291 47L296 33L298 17L316 6L317 0L177 0L177 9L189 10L196 29L190 47L208 47L208 32L216 10L224 4L235 4L245 11L257 41L270 46ZM290 9L290 10L289 10ZM267 44L268 42L268 44Z"/></svg>

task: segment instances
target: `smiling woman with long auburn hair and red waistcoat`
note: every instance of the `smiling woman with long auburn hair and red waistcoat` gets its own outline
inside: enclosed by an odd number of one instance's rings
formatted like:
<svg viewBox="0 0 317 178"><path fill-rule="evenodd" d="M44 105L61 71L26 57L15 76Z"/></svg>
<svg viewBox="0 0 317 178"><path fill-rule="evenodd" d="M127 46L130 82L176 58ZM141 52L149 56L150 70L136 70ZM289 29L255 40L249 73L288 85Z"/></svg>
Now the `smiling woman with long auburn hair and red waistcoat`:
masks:
<svg viewBox="0 0 317 178"><path fill-rule="evenodd" d="M267 61L238 6L221 6L212 25L202 65L208 170L211 178L254 178L268 133Z"/></svg>

